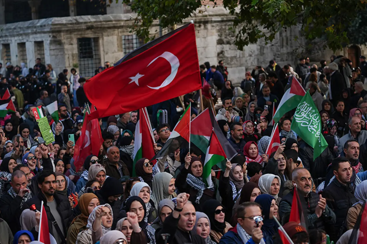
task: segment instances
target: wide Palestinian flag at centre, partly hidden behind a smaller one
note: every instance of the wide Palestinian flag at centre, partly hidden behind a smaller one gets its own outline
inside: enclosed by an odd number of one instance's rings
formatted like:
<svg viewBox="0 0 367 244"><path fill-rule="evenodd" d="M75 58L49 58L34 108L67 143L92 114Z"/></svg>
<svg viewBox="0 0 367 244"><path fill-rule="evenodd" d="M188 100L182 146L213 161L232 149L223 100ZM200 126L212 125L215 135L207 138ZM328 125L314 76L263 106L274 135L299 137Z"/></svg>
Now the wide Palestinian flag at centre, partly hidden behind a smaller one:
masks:
<svg viewBox="0 0 367 244"><path fill-rule="evenodd" d="M234 156L236 156L237 152L235 149L233 149L227 138L224 136L217 123L217 120L215 119L212 108L206 108L191 122L191 142L205 154L207 153L212 131L214 131L216 134L219 143L225 152L226 158L231 160ZM217 162L217 166L223 171L226 168L226 161L227 160Z"/></svg>

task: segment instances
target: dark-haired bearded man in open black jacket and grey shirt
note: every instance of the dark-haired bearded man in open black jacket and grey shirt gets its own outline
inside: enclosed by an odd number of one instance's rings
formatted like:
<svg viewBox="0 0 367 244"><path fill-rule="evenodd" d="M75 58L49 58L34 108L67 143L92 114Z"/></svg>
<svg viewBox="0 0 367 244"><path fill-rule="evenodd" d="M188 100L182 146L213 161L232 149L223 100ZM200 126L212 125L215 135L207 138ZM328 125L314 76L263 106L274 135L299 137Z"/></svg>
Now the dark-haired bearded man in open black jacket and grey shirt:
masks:
<svg viewBox="0 0 367 244"><path fill-rule="evenodd" d="M46 210L48 219L48 229L55 237L57 244L66 242L67 229L73 218L68 197L56 192L56 176L50 170L43 170L39 173L38 187L40 192L23 204L23 210L29 209L33 204L38 211L41 210L41 201Z"/></svg>

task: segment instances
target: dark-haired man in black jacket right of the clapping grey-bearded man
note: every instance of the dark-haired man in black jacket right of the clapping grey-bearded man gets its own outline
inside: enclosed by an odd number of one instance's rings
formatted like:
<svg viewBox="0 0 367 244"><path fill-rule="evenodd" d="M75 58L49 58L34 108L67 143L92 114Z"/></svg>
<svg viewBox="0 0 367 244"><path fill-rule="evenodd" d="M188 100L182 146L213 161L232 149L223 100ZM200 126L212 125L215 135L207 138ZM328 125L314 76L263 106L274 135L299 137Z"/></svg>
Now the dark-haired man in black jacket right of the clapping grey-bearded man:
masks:
<svg viewBox="0 0 367 244"><path fill-rule="evenodd" d="M322 195L327 199L327 205L334 211L337 217L334 228L328 232L330 239L337 241L338 237L340 237L339 232L349 208L358 202L358 200L354 196L356 185L353 184L354 182L351 182L353 169L348 159L345 157L335 158L331 163L331 167L335 178L324 188Z"/></svg>

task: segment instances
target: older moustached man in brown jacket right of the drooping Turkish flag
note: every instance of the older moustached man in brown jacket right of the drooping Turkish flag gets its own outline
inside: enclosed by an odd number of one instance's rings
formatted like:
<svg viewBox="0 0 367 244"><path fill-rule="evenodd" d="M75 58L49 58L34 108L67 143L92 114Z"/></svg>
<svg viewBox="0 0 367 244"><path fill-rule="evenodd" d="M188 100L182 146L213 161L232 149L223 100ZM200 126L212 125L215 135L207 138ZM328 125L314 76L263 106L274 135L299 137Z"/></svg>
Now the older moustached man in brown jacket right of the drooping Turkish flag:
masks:
<svg viewBox="0 0 367 244"><path fill-rule="evenodd" d="M120 160L120 150L116 146L107 149L107 159L103 160L106 175L120 179L124 175L129 175L129 171L124 162Z"/></svg>

